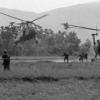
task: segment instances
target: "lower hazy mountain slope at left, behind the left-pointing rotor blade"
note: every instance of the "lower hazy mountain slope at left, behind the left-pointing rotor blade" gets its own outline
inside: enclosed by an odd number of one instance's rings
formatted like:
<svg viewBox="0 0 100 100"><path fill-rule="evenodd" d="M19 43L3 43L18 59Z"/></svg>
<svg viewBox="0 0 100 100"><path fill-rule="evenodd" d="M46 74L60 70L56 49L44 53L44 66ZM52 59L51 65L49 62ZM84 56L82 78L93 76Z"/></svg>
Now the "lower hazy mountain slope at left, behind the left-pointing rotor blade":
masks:
<svg viewBox="0 0 100 100"><path fill-rule="evenodd" d="M0 12L25 20L32 20L38 15L37 13L34 12L24 12L20 10L6 9L6 8L0 8ZM9 22L20 22L20 21L0 14L0 26L7 25L9 24Z"/></svg>

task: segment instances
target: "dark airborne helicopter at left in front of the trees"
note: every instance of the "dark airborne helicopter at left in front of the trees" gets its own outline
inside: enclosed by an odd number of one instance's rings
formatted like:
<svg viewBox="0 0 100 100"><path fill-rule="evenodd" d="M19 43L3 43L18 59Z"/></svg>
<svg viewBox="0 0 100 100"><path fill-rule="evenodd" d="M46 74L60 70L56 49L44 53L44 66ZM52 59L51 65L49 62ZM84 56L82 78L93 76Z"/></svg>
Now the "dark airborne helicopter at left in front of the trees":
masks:
<svg viewBox="0 0 100 100"><path fill-rule="evenodd" d="M35 24L34 22L48 16L48 14L45 14L45 15L40 16L32 21L27 21L27 20L24 20L24 19L21 19L18 17L14 17L14 16L11 16L11 15L3 13L3 12L0 12L0 14L21 21L21 23L12 22L10 24L11 27L13 27L15 24L15 25L17 25L17 28L18 28L18 35L15 38L16 45L18 43L25 42L25 41L31 40L31 39L34 39L36 42L38 42L38 38L36 37L36 35L37 35L37 33L39 33L39 31L43 31L43 30L42 30L41 26Z"/></svg>

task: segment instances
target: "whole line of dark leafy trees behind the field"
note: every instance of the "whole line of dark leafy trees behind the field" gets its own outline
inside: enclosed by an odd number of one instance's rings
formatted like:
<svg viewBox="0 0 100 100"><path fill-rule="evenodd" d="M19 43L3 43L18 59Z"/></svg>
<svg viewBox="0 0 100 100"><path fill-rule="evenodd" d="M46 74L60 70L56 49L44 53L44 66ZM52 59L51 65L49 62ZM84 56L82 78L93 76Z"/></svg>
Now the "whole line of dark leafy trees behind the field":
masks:
<svg viewBox="0 0 100 100"><path fill-rule="evenodd" d="M75 32L67 33L58 31L54 33L52 29L36 29L36 37L28 39L24 42L15 44L15 39L18 37L19 28L10 24L6 27L1 27L0 34L0 55L4 49L7 49L10 55L16 56L50 56L62 55L64 52L74 55L77 52L88 51L90 42L80 45L81 41ZM83 49L84 48L84 49Z"/></svg>

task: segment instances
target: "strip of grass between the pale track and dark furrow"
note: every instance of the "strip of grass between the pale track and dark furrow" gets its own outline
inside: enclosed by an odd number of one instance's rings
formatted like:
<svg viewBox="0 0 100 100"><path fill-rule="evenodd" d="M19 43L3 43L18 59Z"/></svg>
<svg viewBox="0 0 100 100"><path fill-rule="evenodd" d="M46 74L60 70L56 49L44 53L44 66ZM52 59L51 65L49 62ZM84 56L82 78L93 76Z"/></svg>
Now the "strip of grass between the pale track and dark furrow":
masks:
<svg viewBox="0 0 100 100"><path fill-rule="evenodd" d="M3 66L0 65L0 79L41 76L58 79L100 77L99 63L11 62L11 71L6 72L3 72Z"/></svg>

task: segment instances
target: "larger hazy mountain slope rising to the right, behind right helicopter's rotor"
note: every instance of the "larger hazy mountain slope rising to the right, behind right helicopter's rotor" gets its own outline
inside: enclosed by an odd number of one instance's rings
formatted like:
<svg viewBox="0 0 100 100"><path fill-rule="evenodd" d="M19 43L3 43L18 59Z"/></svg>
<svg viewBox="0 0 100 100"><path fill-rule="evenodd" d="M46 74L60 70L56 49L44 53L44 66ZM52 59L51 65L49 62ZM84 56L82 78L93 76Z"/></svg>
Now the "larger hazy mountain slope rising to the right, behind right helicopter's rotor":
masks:
<svg viewBox="0 0 100 100"><path fill-rule="evenodd" d="M45 18L44 20L39 21L38 23L44 26L49 26L55 31L63 30L63 26L61 25L64 22L68 22L69 24L85 26L96 28L96 26L100 29L100 2L93 2L87 4L80 4L71 7L64 7L55 9L48 13L50 16ZM89 31L84 29L69 29L78 33L79 38L84 41L85 39L91 38L91 34L95 33L95 31ZM97 38L99 38L98 36Z"/></svg>

